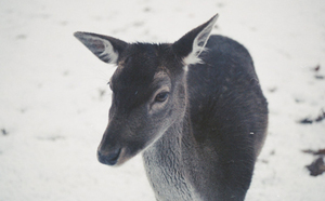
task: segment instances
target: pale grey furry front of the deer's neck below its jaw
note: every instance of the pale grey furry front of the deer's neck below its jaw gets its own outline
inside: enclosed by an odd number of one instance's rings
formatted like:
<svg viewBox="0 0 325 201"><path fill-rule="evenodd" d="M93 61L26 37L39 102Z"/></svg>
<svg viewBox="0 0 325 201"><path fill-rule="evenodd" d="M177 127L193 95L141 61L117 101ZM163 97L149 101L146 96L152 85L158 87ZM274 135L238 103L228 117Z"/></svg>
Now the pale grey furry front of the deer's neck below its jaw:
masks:
<svg viewBox="0 0 325 201"><path fill-rule="evenodd" d="M187 99L186 99L187 102ZM186 107L188 104L186 104ZM187 180L186 149L192 146L190 112L185 108L165 134L143 152L144 166L157 200L196 200ZM166 199L167 198L167 199Z"/></svg>

